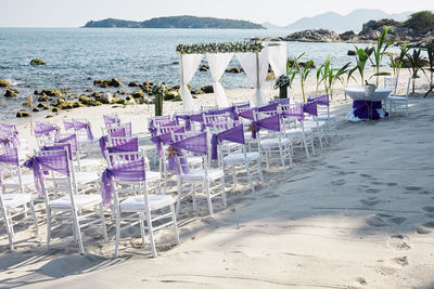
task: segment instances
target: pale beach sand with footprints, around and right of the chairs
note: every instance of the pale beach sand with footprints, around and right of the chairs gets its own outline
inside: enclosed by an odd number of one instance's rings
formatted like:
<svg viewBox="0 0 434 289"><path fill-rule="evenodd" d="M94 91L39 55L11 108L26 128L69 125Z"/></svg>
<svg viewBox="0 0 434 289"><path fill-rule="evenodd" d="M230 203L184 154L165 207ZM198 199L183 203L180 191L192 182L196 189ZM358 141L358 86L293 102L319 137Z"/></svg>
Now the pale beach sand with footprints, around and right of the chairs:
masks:
<svg viewBox="0 0 434 289"><path fill-rule="evenodd" d="M398 94L405 93L406 77L403 70ZM67 226L54 229L46 252L43 216L39 238L33 237L33 226L18 229L14 252L1 227L0 287L433 288L434 97L422 97L427 86L419 80L409 117L400 110L391 119L358 123L345 120L350 100L339 87L332 104L339 135L329 146L309 159L297 150L286 173L277 165L266 169L264 189L257 186L252 194L242 183L229 191L228 208L216 200L214 215L204 201L196 212L184 210L181 244L173 246L171 231L158 232L156 259L131 228L135 237L125 234L120 258L114 260L108 216L110 241L103 241L98 227L85 231L86 255L77 253ZM307 92L315 92L315 80ZM227 94L240 101L254 91ZM195 101L209 105L210 100L202 95ZM165 103L165 113L180 108L180 103ZM152 109L80 108L49 121L85 117L101 134L102 115L118 113L139 132L145 131ZM28 134L28 124L21 124L20 132Z"/></svg>

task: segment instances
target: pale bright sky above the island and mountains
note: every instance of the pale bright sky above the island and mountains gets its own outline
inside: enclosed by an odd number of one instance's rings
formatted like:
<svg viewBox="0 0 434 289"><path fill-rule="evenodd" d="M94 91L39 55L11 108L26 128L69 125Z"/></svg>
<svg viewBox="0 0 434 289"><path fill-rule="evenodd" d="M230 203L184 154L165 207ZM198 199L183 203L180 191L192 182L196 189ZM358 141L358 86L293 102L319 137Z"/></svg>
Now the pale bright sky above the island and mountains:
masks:
<svg viewBox="0 0 434 289"><path fill-rule="evenodd" d="M0 27L79 27L108 17L144 21L194 15L269 22L285 26L333 11L380 9L387 13L433 10L434 0L0 0Z"/></svg>

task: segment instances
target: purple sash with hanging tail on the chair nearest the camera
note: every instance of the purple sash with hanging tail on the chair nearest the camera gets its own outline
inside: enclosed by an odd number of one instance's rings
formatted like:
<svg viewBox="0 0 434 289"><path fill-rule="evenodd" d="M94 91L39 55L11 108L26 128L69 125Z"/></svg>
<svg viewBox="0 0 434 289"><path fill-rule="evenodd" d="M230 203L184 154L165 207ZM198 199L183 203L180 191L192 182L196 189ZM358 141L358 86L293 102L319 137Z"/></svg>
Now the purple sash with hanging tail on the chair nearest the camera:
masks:
<svg viewBox="0 0 434 289"><path fill-rule="evenodd" d="M116 165L104 170L101 178L101 194L104 206L111 203L113 194L113 180L125 182L144 182L146 180L144 158L139 158L127 163Z"/></svg>

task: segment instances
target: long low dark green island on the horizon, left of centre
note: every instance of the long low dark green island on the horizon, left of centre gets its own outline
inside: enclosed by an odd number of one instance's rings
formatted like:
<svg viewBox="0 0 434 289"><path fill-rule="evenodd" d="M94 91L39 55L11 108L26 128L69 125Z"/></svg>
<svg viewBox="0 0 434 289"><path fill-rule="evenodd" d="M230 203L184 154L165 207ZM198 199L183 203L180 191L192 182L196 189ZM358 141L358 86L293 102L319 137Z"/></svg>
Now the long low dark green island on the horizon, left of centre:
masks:
<svg viewBox="0 0 434 289"><path fill-rule="evenodd" d="M248 21L196 16L157 17L143 22L106 18L89 21L84 28L202 28L202 29L266 29Z"/></svg>

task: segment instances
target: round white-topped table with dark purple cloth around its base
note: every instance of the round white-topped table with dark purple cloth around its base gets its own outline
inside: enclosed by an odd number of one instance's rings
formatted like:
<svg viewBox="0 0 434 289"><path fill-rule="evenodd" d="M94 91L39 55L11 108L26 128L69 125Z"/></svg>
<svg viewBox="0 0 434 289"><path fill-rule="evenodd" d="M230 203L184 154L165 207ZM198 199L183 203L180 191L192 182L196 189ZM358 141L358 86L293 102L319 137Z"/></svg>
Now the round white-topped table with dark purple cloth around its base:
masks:
<svg viewBox="0 0 434 289"><path fill-rule="evenodd" d="M361 121L387 116L381 103L392 94L392 89L376 88L372 96L365 95L363 87L346 88L345 93L353 100L353 111L346 116L347 120Z"/></svg>

